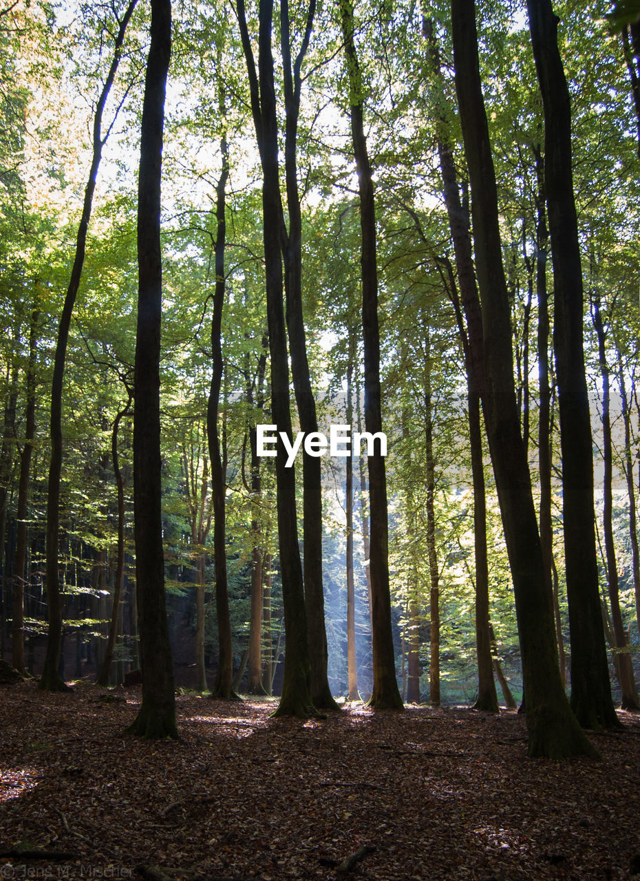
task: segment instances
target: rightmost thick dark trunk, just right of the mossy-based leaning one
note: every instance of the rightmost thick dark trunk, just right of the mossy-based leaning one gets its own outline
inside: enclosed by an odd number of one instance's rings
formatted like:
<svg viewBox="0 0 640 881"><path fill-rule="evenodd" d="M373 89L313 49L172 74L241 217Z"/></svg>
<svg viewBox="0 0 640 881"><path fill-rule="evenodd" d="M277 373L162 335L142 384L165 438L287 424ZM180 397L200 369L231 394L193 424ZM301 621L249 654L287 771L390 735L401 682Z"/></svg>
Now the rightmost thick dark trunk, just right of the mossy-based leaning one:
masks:
<svg viewBox="0 0 640 881"><path fill-rule="evenodd" d="M591 416L585 380L582 269L571 168L570 95L558 51L558 19L551 0L527 0L527 10L545 120L544 171L555 287L554 349L563 456L571 707L584 728L616 727L620 722L611 698L593 530Z"/></svg>

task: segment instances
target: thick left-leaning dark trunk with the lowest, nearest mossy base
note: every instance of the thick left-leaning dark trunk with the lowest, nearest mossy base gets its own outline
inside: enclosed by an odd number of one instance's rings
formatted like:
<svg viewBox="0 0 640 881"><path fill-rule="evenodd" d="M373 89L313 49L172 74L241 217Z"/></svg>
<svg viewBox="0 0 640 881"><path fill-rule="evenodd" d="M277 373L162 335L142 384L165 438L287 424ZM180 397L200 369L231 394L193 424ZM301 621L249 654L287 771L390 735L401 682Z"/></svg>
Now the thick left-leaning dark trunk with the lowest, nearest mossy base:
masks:
<svg viewBox="0 0 640 881"><path fill-rule="evenodd" d="M452 39L482 296L485 423L516 599L529 755L593 755L595 750L571 713L558 670L531 479L520 434L496 178L482 98L475 4L469 0L452 0Z"/></svg>

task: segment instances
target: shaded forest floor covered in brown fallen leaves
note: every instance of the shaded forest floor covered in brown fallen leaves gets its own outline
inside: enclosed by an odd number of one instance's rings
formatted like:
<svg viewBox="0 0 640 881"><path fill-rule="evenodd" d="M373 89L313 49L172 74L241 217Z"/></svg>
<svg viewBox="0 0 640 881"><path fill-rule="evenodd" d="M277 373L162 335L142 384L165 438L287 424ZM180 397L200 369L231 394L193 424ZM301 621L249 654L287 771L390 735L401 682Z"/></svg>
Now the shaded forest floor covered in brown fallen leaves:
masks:
<svg viewBox="0 0 640 881"><path fill-rule="evenodd" d="M637 715L549 761L514 713L179 695L181 739L150 742L121 735L139 689L106 693L0 686L0 879L640 877Z"/></svg>

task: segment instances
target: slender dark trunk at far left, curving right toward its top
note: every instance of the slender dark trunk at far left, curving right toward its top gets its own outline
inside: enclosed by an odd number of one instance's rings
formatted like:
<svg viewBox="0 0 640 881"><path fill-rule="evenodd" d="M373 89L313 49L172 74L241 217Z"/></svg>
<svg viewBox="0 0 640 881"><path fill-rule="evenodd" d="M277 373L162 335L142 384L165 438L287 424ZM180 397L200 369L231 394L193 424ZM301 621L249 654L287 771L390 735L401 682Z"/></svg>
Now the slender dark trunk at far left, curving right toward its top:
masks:
<svg viewBox="0 0 640 881"><path fill-rule="evenodd" d="M63 377L64 362L67 356L67 342L71 325L71 314L76 302L77 291L80 286L80 278L85 263L86 235L91 218L93 193L98 179L98 168L102 158L102 149L108 137L102 135L102 115L107 103L111 86L114 84L115 74L121 58L124 34L129 24L137 0L131 0L121 21L119 30L114 41L114 56L111 67L107 73L107 79L102 86L99 99L93 115L93 142L92 163L89 169L89 177L85 187L85 199L82 207L82 217L77 228L76 255L71 269L71 276L67 294L64 298L63 314L60 316L58 336L55 343L54 374L51 382L51 460L48 474L47 496L47 604L48 604L48 637L47 654L45 656L40 688L47 691L66 691L68 686L63 682L58 673L61 640L63 633L63 608L60 596L60 581L58 572L58 544L60 541L60 478L63 465Z"/></svg>

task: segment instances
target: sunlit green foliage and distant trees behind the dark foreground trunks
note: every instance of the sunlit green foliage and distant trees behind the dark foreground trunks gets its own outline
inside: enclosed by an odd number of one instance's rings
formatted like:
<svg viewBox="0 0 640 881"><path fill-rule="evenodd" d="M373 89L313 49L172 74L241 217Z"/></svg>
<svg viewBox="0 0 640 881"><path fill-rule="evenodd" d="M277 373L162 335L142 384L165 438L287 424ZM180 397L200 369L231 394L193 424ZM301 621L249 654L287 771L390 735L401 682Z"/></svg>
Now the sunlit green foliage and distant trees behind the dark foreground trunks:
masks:
<svg viewBox="0 0 640 881"><path fill-rule="evenodd" d="M556 11L572 102L600 602L615 689L620 655L629 655L629 648L637 669L640 596L635 522L640 490L637 60L631 29L612 33L606 4L557 4ZM294 55L301 48L307 13L305 4L291 6ZM545 436L541 426L549 430L555 633L566 678L569 623L555 360L550 354L553 279L547 266L541 100L522 4L482 4L480 13L482 85L511 308L512 372L537 505L540 438ZM477 550L465 324L438 158L445 130L468 216L449 12L446 4L421 9L413 4L361 3L356 14L362 70L356 97L365 108L378 224L395 668L406 700L473 703ZM24 639L26 655L16 665L36 675L48 629L48 425L55 345L92 161L95 112L123 16L124 9L115 4L18 2L4 8L0 18L0 648L2 656L15 663L16 640ZM108 137L63 384L60 673L63 679L98 675L113 652L113 663L107 663L104 673L112 684L139 663L132 389L136 175L148 17L142 4L132 11L104 107L103 137ZM257 19L249 17L252 34L256 25ZM276 22L276 42L282 27L282 21ZM305 335L319 427L325 433L331 423L364 425L361 233L349 128L357 101L343 49L337 8L320 4L301 79L298 181ZM279 63L277 56L276 72ZM276 82L283 128L286 84ZM219 649L207 408L214 360L210 321L219 278L217 206L226 174L224 374L217 424L225 474L234 686L277 693L282 676L277 665L285 641L276 477L272 460L257 463L252 455L254 426L270 423L272 417L262 174L249 78L233 10L216 4L176 4L162 190L162 515L176 681L200 691L217 675ZM291 222L291 216L288 219ZM549 371L548 409L541 387L543 365ZM295 422L295 411L293 418ZM519 638L486 442L483 460L491 652L504 700L510 704L522 697ZM373 681L366 462L364 457L356 460L350 476L348 461L326 458L321 463L327 678L335 696L355 698L360 693L367 698ZM118 485L126 542L120 597ZM299 473L298 500L301 518ZM351 577L354 600L349 605ZM259 603L252 605L256 596ZM623 640L616 635L615 596ZM17 602L25 608L18 627ZM116 640L110 646L112 620ZM258 634L257 667L255 651L250 657L252 633L254 640ZM349 633L356 658L350 677ZM245 675L248 680L243 680ZM623 697L620 689L616 696Z"/></svg>

